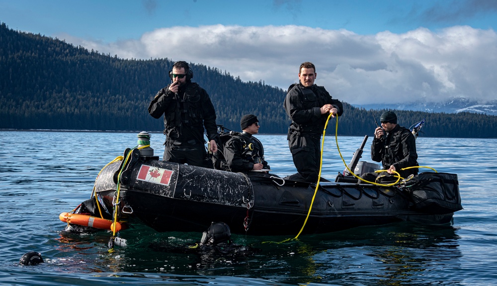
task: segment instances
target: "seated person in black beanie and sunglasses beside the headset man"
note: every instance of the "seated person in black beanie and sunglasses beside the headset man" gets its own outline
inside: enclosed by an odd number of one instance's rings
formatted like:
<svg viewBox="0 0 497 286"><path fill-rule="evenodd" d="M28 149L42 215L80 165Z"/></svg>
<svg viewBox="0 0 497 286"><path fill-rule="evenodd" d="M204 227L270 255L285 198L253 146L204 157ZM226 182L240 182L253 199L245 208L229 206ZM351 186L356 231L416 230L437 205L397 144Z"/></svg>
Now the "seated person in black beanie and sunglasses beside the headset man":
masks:
<svg viewBox="0 0 497 286"><path fill-rule="evenodd" d="M249 171L269 170L264 161L262 143L252 136L259 133L259 120L253 114L247 114L240 120L242 133L233 132L224 147L226 161L221 162L221 169L231 172L248 173Z"/></svg>

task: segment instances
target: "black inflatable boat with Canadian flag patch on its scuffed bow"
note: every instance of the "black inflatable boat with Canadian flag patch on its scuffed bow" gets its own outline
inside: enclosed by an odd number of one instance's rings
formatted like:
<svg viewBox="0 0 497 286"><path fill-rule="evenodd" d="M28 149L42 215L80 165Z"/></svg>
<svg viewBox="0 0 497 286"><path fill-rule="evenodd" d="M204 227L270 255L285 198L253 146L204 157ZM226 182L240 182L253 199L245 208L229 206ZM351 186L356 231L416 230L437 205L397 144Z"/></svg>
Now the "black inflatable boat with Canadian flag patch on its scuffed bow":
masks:
<svg viewBox="0 0 497 286"><path fill-rule="evenodd" d="M343 172L335 182L311 184L163 162L146 145L147 134L100 171L90 199L60 215L67 229L116 232L143 223L158 232L202 232L222 221L233 233L314 234L400 221L446 224L462 209L455 174L423 172L385 186L358 184ZM88 218L72 220L76 215Z"/></svg>

